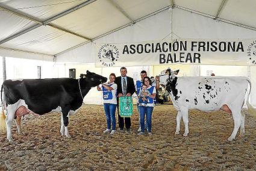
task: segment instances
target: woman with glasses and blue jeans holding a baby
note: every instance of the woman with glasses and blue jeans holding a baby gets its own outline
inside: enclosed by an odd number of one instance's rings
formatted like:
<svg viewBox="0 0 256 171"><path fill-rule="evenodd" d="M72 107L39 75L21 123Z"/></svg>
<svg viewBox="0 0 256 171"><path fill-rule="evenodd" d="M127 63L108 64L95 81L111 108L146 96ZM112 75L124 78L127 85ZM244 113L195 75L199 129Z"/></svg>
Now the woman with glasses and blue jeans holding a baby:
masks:
<svg viewBox="0 0 256 171"><path fill-rule="evenodd" d="M148 104L146 106L140 106L140 126L141 131L138 133L138 135L143 135L145 132L145 114L146 114L146 120L148 125L148 134L152 135L151 128L152 128L152 112L154 109L154 98L156 94L156 90L154 86L151 86L151 79L148 76L145 76L143 79L143 84L146 85L149 93L142 93L143 96L148 96Z"/></svg>

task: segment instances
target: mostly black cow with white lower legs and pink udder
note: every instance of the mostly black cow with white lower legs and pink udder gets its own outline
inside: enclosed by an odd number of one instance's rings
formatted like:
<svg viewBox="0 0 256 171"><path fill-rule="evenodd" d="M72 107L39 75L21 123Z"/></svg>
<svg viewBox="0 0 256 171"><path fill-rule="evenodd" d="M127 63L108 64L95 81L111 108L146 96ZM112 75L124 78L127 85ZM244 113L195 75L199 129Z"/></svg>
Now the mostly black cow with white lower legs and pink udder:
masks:
<svg viewBox="0 0 256 171"><path fill-rule="evenodd" d="M92 87L106 82L107 78L87 70L80 79L49 78L7 80L2 84L4 89L7 117L7 139L12 141L11 125L16 118L17 131L23 134L20 126L22 115L45 114L51 111L61 112L61 135L70 137L67 125L69 116L83 104L84 96ZM1 100L2 100L1 89Z"/></svg>

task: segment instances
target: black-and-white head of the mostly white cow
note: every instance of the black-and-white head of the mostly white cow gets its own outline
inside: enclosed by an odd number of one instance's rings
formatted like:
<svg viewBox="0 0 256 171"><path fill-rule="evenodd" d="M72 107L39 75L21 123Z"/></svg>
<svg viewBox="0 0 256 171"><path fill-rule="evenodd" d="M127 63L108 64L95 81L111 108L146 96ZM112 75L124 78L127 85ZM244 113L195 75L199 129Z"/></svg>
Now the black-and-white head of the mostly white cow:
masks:
<svg viewBox="0 0 256 171"><path fill-rule="evenodd" d="M166 79L166 90L167 92L171 92L171 90L175 89L176 86L176 81L177 81L177 74L179 73L179 69L178 70L170 70L167 69L166 70L166 75L167 75L167 79Z"/></svg>

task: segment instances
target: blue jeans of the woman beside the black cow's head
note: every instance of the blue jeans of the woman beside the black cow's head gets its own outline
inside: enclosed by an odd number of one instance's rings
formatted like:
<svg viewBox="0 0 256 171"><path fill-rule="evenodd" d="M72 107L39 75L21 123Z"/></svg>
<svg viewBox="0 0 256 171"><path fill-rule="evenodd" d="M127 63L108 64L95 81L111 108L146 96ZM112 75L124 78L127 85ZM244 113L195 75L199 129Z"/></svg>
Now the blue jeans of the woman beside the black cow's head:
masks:
<svg viewBox="0 0 256 171"><path fill-rule="evenodd" d="M105 104L104 103L104 110L107 119L107 128L111 129L112 123L112 130L116 130L116 104Z"/></svg>

